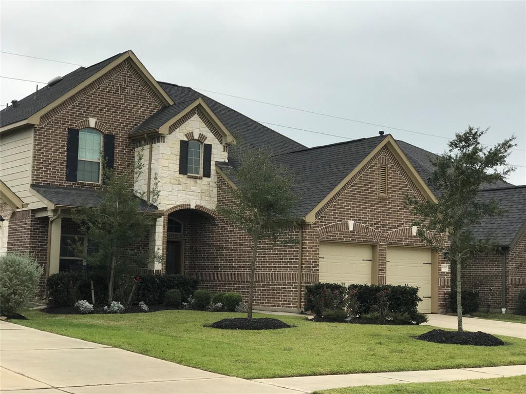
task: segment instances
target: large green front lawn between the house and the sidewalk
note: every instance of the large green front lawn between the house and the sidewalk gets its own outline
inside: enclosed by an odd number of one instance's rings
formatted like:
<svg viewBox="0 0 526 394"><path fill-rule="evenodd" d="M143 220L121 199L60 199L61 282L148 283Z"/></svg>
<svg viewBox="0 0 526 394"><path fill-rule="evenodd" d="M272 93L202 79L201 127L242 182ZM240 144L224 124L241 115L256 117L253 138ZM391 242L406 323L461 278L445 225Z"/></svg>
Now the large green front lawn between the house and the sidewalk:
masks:
<svg viewBox="0 0 526 394"><path fill-rule="evenodd" d="M29 320L12 322L249 379L526 364L526 340L501 337L506 346L488 348L412 338L431 330L429 326L313 323L269 316L296 327L246 331L203 327L244 316L235 313L51 315L33 310L25 315Z"/></svg>

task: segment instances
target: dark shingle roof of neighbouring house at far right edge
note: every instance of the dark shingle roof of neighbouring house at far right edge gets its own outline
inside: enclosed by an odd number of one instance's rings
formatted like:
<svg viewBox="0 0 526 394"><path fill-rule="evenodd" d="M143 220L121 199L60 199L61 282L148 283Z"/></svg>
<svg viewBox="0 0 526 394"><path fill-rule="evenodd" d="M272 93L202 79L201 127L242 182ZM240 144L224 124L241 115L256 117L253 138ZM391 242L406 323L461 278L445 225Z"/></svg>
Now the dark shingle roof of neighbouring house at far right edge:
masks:
<svg viewBox="0 0 526 394"><path fill-rule="evenodd" d="M509 246L526 222L526 185L481 190L477 201L496 200L504 211L502 216L485 217L472 228L478 239L489 237L500 246Z"/></svg>

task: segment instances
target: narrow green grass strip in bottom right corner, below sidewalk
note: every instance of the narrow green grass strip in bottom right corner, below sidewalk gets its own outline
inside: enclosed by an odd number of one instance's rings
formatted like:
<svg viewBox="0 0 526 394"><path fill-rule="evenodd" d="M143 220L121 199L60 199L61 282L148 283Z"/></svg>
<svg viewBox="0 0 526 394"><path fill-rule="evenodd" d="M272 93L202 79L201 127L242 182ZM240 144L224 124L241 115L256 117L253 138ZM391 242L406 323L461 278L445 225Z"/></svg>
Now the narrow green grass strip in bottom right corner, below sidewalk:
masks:
<svg viewBox="0 0 526 394"><path fill-rule="evenodd" d="M388 386L346 387L315 391L315 394L518 394L526 392L526 376L458 380L452 382L408 383Z"/></svg>

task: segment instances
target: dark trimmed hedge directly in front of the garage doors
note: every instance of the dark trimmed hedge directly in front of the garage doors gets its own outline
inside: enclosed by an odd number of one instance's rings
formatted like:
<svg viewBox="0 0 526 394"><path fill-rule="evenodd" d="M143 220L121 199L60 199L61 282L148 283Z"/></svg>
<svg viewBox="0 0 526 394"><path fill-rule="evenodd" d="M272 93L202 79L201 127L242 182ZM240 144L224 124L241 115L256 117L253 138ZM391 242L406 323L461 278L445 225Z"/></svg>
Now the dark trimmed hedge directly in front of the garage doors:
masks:
<svg viewBox="0 0 526 394"><path fill-rule="evenodd" d="M415 316L421 300L418 287L316 283L306 286L305 310L323 316L325 310L348 308L353 315L362 316L379 312L387 305L385 312ZM352 307L349 307L351 302Z"/></svg>

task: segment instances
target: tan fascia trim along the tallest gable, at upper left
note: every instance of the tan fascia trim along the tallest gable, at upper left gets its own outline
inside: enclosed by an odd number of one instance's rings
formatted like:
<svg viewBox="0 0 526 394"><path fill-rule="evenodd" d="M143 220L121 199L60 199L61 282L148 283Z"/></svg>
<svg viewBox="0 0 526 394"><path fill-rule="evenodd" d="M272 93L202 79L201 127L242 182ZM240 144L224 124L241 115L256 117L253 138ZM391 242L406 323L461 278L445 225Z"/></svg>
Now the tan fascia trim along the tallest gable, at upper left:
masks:
<svg viewBox="0 0 526 394"><path fill-rule="evenodd" d="M143 78L148 82L148 85L154 89L154 91L157 93L159 98L165 103L166 106L170 106L174 103L174 100L168 96L168 94L164 91L163 88L160 87L159 83L155 80L155 78L149 73L149 71L143 66L142 63L140 63L139 59L135 54L128 50L122 55L120 55L118 58L116 58L112 63L108 64L106 67L100 69L98 72L96 72L91 77L87 78L83 82L80 82L77 86L75 86L73 89L68 90L64 95L60 96L58 99L53 101L52 103L49 103L47 106L42 108L41 110L35 112L33 115L31 115L29 118L25 120L21 120L16 123L12 123L11 125L4 126L3 128L0 128L0 131L6 131L10 130L16 127L20 127L25 125L26 123L29 123L31 125L38 125L40 123L40 117L44 115L45 113L49 112L56 106L58 106L60 103L64 102L68 98L74 96L77 94L80 90L84 89L86 86L97 80L98 78L102 77L106 72L113 69L115 66L122 63L124 60L130 59L137 71L139 71L139 74L143 76Z"/></svg>

